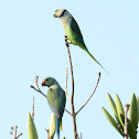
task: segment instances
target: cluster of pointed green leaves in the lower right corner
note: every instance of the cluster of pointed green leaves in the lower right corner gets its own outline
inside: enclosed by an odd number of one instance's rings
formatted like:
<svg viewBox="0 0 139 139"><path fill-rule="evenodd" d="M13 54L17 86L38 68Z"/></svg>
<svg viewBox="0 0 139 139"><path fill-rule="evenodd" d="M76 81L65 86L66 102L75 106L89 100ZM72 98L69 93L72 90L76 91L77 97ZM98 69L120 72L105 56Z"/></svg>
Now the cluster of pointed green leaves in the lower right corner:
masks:
<svg viewBox="0 0 139 139"><path fill-rule="evenodd" d="M135 94L132 94L131 100L130 100L130 107L129 107L129 118L126 118L126 110L124 110L121 100L118 95L116 95L116 101L111 98L109 94L107 94L107 98L110 105L110 108L114 113L114 116L116 118L113 118L111 115L101 107L106 118L108 121L113 125L113 127L122 136L125 137L125 125L127 121L127 135L130 137L130 139L137 139L137 128L138 128L138 121L139 121L139 98L136 97Z"/></svg>

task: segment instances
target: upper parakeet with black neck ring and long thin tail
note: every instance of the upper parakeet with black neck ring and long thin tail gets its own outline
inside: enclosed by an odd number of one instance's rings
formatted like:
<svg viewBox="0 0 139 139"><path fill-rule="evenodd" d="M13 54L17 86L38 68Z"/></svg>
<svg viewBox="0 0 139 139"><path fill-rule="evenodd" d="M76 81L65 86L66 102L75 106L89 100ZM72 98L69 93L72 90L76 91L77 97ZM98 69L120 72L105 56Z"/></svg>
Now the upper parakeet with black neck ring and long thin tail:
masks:
<svg viewBox="0 0 139 139"><path fill-rule="evenodd" d="M100 65L99 62L89 53L88 49L86 47L84 43L84 39L82 35L82 32L79 30L79 26L77 22L75 21L74 17L65 9L57 9L55 10L54 18L60 18L62 21L62 24L64 26L65 34L68 39L68 41L74 44L82 47L84 51L87 52L87 54ZM100 65L101 66L101 65ZM103 67L103 66L101 66ZM104 67L103 67L104 68ZM105 68L104 68L105 70ZM106 71L106 70L105 70ZM107 72L107 71L106 71Z"/></svg>

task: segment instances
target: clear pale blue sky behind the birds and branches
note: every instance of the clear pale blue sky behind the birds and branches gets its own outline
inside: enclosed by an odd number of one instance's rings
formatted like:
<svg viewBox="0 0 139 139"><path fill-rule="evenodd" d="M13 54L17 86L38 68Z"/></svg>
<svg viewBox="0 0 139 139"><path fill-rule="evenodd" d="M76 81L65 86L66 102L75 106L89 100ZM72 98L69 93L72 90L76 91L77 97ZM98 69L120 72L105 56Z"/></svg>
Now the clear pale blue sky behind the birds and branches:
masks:
<svg viewBox="0 0 139 139"><path fill-rule="evenodd" d="M26 118L35 97L34 121L39 138L45 139L51 110L46 99L30 88L34 76L39 85L53 76L65 88L70 67L64 30L53 13L67 9L76 19L89 52L108 71L107 74L78 46L71 45L75 76L75 109L92 94L92 100L77 116L77 131L84 139L122 138L105 118L101 106L110 114L106 94L121 101L139 95L139 1L138 0L1 0L0 1L0 137L10 139L10 127L18 125L28 138ZM68 72L71 95L71 73ZM47 88L41 87L46 94ZM66 109L71 110L70 101ZM64 114L61 137L73 139L72 117ZM56 137L55 137L56 139Z"/></svg>

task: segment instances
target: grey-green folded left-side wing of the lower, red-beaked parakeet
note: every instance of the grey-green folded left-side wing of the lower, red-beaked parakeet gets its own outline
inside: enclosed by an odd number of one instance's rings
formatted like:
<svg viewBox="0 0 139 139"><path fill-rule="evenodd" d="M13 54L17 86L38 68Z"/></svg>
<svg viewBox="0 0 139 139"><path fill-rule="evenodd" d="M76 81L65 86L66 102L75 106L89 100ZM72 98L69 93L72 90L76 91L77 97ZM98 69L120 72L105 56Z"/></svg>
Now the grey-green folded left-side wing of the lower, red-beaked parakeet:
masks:
<svg viewBox="0 0 139 139"><path fill-rule="evenodd" d="M55 89L50 88L47 92L47 101L50 104L51 110L60 118L58 107L60 107L60 99L58 94Z"/></svg>

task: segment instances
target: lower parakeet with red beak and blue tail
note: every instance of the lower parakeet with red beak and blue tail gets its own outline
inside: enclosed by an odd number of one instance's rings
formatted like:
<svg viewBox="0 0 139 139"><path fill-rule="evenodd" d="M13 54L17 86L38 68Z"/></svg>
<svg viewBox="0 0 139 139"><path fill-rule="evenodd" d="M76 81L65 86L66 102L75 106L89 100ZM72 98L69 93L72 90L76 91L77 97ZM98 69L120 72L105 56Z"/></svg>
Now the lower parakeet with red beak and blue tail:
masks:
<svg viewBox="0 0 139 139"><path fill-rule="evenodd" d="M56 116L56 131L57 139L60 139L60 128L62 129L62 117L66 104L65 92L53 77L44 77L42 81L42 86L50 87L46 98L51 110Z"/></svg>

